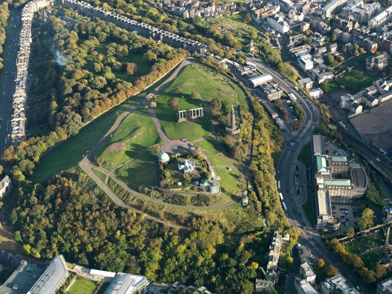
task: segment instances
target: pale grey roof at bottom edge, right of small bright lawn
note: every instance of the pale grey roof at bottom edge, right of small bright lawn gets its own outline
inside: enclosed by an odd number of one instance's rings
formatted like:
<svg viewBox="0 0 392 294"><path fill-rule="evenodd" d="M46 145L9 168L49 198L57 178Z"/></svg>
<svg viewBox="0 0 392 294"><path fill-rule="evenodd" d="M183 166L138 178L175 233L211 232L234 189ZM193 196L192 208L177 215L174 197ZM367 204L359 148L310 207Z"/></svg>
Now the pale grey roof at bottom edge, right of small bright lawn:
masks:
<svg viewBox="0 0 392 294"><path fill-rule="evenodd" d="M148 284L145 276L118 272L104 294L133 294L144 283Z"/></svg>

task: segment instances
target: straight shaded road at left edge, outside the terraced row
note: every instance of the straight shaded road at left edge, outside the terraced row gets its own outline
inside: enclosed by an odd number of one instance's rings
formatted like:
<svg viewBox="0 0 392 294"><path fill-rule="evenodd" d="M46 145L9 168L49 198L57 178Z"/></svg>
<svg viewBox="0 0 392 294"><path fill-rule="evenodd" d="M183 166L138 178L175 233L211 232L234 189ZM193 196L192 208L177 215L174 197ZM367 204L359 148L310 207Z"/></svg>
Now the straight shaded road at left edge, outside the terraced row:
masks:
<svg viewBox="0 0 392 294"><path fill-rule="evenodd" d="M9 123L12 119L12 97L15 90L16 77L16 56L18 54L19 32L21 30L21 8L13 8L10 11L10 32L7 36L8 45L4 59L4 79L3 84L0 85L1 100L0 100L0 154L6 148L5 140L9 133ZM5 50L5 48L4 48Z"/></svg>

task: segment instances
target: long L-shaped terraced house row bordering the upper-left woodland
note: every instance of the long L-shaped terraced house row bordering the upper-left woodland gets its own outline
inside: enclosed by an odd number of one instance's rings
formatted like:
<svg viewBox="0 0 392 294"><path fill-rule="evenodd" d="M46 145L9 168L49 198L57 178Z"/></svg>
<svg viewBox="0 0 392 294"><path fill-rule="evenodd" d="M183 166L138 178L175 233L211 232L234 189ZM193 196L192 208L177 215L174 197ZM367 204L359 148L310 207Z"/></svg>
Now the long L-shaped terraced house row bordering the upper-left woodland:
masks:
<svg viewBox="0 0 392 294"><path fill-rule="evenodd" d="M28 2L22 10L22 27L20 44L16 60L17 76L15 79L15 93L13 95L13 114L11 120L10 144L19 145L26 139L26 114L28 64L31 46L31 22L35 12L48 5L61 4L89 17L98 17L103 21L111 22L119 27L134 31L147 38L151 37L174 48L182 48L190 52L204 54L207 45L180 37L171 32L156 28L145 23L139 23L127 17L111 12L101 7L94 7L89 3L76 0L33 0Z"/></svg>

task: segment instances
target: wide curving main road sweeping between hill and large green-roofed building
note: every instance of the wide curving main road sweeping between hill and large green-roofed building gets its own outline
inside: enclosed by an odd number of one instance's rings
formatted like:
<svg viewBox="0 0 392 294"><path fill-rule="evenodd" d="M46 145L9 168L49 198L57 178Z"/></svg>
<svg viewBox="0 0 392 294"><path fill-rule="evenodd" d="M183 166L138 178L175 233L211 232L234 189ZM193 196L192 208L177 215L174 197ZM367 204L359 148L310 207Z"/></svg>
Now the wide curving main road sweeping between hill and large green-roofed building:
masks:
<svg viewBox="0 0 392 294"><path fill-rule="evenodd" d="M276 168L281 183L281 191L288 207L287 215L290 225L293 225L294 227L301 227L302 225L305 225L306 227L306 230L301 230L298 243L306 245L312 251L314 256L323 258L328 264L338 268L339 272L342 273L353 285L361 287L362 293L373 293L374 291L368 289L368 285L363 283L358 274L353 273L352 269L345 265L341 261L340 257L336 256L328 247L326 247L324 241L321 240L319 232L312 228L307 221L301 208L301 204L305 200L302 194L305 193L304 190L307 187L307 179L303 175L303 172L300 172L300 177L297 179L298 188L300 188L301 194L297 196L295 193L295 166L297 165L297 157L302 147L311 141L313 128L317 127L320 123L321 114L319 108L311 102L310 99L305 98L302 94L298 93L291 81L271 69L261 60L257 58L247 58L247 61L255 64L256 68L262 73L270 73L285 92L293 93L298 101L302 102L301 105L305 111L306 119L301 129L298 132L283 133L285 146L278 159ZM291 194L290 191L292 191L293 194ZM298 208L302 211L301 216L294 212ZM294 291L293 285L294 275L288 275L287 286L291 293Z"/></svg>

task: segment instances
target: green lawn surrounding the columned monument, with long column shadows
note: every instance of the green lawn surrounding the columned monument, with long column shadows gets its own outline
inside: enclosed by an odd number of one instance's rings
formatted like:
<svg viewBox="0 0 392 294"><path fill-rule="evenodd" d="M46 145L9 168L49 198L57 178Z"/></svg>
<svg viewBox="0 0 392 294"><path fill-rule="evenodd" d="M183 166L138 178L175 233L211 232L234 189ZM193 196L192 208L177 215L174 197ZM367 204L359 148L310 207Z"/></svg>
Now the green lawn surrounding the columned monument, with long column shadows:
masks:
<svg viewBox="0 0 392 294"><path fill-rule="evenodd" d="M181 89L180 93L164 92L162 95L158 95L156 99L156 115L165 130L166 136L170 139L187 138L188 140L196 140L208 136L211 132L210 116L205 108L207 102L203 103L203 117L193 122L177 122L177 110L167 103L170 98L179 98L178 107L182 110L200 107L203 102L201 99L192 99L186 90L188 89Z"/></svg>

